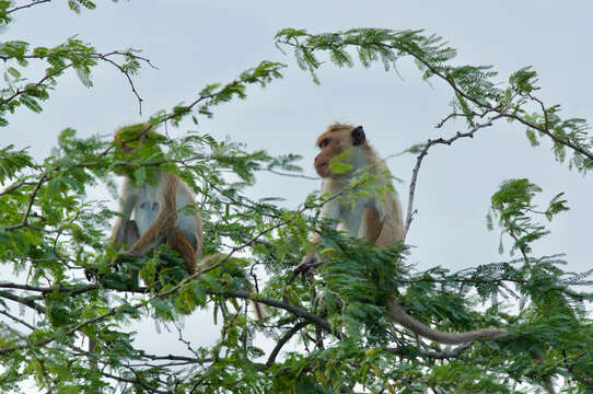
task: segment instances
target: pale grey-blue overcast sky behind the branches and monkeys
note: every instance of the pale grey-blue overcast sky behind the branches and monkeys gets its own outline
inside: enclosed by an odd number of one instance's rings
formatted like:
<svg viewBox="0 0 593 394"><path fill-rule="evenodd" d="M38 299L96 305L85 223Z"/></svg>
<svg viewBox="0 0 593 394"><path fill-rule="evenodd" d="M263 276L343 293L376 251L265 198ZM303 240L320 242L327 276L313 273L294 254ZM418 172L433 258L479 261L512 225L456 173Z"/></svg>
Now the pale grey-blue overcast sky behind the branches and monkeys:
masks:
<svg viewBox="0 0 593 394"><path fill-rule="evenodd" d="M457 49L457 63L493 65L501 82L510 72L533 66L542 86L537 95L548 106L561 104L565 117L593 119L591 1L562 2L562 7L544 0L97 3L97 10L80 15L70 12L66 1L22 10L2 39L55 46L77 35L93 43L97 51L142 49L142 56L159 68L146 68L135 79L144 99L143 115L138 114L124 76L114 68L95 69L92 89L82 86L69 71L42 114L20 108L9 117L4 143L30 146L42 159L66 127L82 136L113 132L159 109L188 103L206 84L230 81L264 59L286 62L284 79L264 90L249 88L245 101L216 107L213 119L197 128L187 124L182 130L198 129L221 139L230 136L270 154L300 153L307 175L315 175L311 164L315 138L335 120L363 125L382 157L443 132L464 130L462 123L446 130L434 128L447 114L451 92L438 81L422 82L411 61L400 62L403 78L385 72L381 65L371 69L327 65L316 85L290 54L284 56L274 46L274 35L282 27L305 27L312 33L423 28ZM418 179L418 216L407 239L416 247L409 260L420 269L441 265L457 270L508 258L498 255L499 233L486 229L489 198L502 181L528 177L543 187L540 201L565 192L571 208L551 223L551 234L536 245L535 253L566 253L567 270L592 268L593 174L583 177L567 164L556 163L549 147L545 141L531 148L523 127L502 121L480 130L473 140L431 149ZM403 179L396 188L404 207L414 163L415 158L408 155L387 162ZM249 193L252 197L284 197L286 205L294 208L318 187L315 181L261 175ZM206 321L211 322L210 317ZM198 334L207 341L205 332Z"/></svg>

